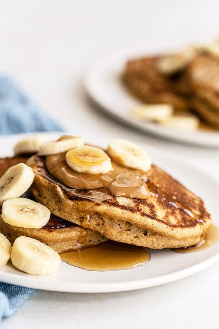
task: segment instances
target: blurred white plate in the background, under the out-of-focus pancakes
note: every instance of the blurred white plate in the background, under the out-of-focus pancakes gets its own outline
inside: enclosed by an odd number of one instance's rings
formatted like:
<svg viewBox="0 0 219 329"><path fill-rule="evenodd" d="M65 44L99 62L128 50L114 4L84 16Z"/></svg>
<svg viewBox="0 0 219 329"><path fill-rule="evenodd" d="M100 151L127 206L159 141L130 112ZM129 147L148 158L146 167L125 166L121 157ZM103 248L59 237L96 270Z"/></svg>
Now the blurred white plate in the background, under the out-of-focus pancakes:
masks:
<svg viewBox="0 0 219 329"><path fill-rule="evenodd" d="M156 53L158 51L158 49L153 49L150 52ZM156 123L133 118L130 115L131 109L139 101L125 89L121 80L121 73L128 59L144 56L147 53L148 50L146 49L126 50L100 60L88 71L85 77L84 85L88 94L102 111L143 132L174 139L178 142L219 147L219 133L217 132L179 132Z"/></svg>

